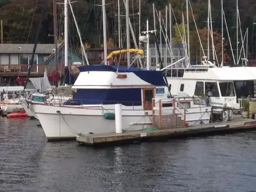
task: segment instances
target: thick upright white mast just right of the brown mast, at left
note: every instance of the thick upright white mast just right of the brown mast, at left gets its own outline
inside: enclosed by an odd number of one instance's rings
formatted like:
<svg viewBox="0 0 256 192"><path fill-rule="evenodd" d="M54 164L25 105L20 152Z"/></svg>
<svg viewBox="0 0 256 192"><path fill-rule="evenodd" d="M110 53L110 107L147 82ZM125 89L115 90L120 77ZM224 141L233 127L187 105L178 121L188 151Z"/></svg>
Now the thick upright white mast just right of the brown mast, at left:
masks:
<svg viewBox="0 0 256 192"><path fill-rule="evenodd" d="M65 64L65 75L68 72L68 0L64 0L64 64ZM68 84L65 83L65 86Z"/></svg>

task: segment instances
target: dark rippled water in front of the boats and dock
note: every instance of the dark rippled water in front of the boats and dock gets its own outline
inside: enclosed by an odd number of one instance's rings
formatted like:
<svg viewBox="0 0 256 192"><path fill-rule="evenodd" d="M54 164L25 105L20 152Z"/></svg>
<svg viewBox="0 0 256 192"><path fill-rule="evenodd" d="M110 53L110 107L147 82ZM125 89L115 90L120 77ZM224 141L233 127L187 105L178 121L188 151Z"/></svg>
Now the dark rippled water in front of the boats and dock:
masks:
<svg viewBox="0 0 256 192"><path fill-rule="evenodd" d="M0 118L1 192L256 191L255 132L93 149L37 124Z"/></svg>

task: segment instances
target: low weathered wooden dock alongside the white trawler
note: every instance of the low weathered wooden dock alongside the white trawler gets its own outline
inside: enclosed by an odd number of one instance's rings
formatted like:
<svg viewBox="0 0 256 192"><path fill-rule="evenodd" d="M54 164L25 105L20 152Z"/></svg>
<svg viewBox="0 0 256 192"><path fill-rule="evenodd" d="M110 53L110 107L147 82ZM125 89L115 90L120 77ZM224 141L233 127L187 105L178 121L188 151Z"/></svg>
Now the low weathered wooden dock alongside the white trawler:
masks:
<svg viewBox="0 0 256 192"><path fill-rule="evenodd" d="M90 146L118 145L133 142L161 141L167 138L187 138L195 136L208 136L216 134L234 133L256 128L256 120L244 119L236 116L229 122L211 123L186 128L165 129L165 130L140 130L124 133L87 134L77 135L79 144Z"/></svg>

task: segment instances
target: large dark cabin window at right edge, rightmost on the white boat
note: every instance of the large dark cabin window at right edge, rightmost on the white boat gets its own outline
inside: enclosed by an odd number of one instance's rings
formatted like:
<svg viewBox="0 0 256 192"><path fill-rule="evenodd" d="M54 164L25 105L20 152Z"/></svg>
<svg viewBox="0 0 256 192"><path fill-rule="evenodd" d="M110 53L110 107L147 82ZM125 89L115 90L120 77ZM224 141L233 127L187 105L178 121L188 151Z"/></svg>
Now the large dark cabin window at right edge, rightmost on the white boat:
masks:
<svg viewBox="0 0 256 192"><path fill-rule="evenodd" d="M254 81L234 81L234 87L237 98L254 96Z"/></svg>

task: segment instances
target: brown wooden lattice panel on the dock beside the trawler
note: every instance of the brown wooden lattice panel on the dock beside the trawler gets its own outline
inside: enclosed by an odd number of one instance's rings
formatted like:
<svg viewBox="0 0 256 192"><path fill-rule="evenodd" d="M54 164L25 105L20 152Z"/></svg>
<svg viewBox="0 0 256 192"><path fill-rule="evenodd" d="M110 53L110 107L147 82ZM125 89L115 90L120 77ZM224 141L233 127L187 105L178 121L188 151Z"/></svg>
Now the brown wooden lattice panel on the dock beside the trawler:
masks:
<svg viewBox="0 0 256 192"><path fill-rule="evenodd" d="M155 127L158 130L184 127L184 121L177 114L162 114L160 118L159 115L155 115L154 118ZM159 119L161 119L161 123L159 122Z"/></svg>

